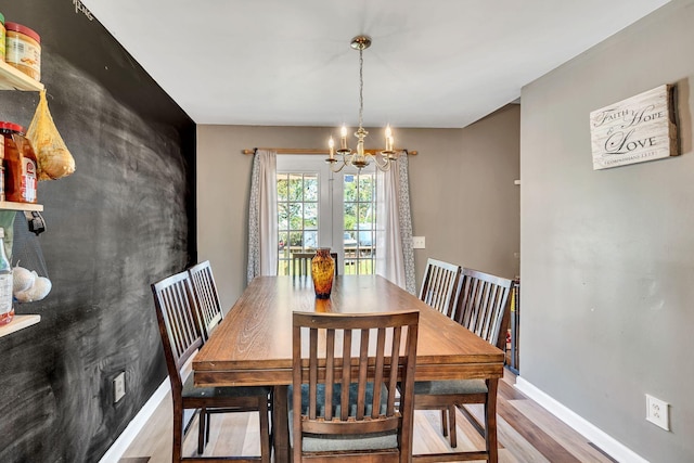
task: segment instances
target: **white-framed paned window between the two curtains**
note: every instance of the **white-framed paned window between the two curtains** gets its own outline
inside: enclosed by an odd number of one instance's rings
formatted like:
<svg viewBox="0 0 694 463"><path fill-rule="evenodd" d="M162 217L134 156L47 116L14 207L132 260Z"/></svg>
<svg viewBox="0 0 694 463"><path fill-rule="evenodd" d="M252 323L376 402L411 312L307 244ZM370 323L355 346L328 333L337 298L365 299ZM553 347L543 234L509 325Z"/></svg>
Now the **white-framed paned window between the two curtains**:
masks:
<svg viewBox="0 0 694 463"><path fill-rule="evenodd" d="M334 173L320 156L278 156L278 274L317 247L338 254L340 274L374 273L374 170Z"/></svg>

